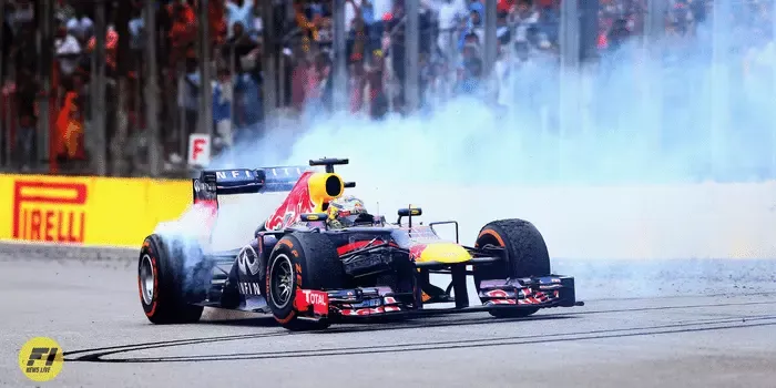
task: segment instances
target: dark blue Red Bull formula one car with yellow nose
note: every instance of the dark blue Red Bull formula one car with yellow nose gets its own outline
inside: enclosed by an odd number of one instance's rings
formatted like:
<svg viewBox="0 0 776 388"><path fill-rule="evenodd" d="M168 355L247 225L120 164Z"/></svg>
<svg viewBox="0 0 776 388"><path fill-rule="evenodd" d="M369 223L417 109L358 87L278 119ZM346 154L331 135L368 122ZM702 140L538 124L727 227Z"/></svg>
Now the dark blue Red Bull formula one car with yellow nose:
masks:
<svg viewBox="0 0 776 388"><path fill-rule="evenodd" d="M483 310L524 317L544 307L582 305L574 278L551 274L544 239L531 223L491 222L473 247L458 243L455 221L418 224L420 207L400 208L389 223L344 195L355 183L344 182L334 166L347 163L310 161L325 172L308 166L202 172L193 180L193 196L206 223L217 217L221 195L288 194L242 248L211 252L207 238L146 237L137 282L146 317L154 324L193 323L203 307L217 307L270 313L288 329L312 329L348 318ZM348 207L348 201L355 205ZM440 224L455 225L456 242L437 234ZM431 273L450 275L447 289L431 285ZM480 306L469 306L467 275L473 275ZM428 308L435 303L455 307Z"/></svg>

